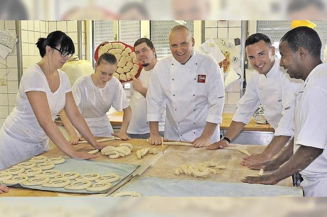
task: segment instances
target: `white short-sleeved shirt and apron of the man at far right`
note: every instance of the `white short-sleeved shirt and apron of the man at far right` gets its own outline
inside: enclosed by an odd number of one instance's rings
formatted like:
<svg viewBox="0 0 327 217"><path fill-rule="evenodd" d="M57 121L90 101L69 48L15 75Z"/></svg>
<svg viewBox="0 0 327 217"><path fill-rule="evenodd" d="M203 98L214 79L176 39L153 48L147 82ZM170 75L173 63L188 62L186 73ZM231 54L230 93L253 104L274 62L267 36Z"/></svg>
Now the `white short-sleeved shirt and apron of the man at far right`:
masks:
<svg viewBox="0 0 327 217"><path fill-rule="evenodd" d="M305 196L327 196L327 63L316 66L296 98L294 152L300 147L324 149L300 174Z"/></svg>

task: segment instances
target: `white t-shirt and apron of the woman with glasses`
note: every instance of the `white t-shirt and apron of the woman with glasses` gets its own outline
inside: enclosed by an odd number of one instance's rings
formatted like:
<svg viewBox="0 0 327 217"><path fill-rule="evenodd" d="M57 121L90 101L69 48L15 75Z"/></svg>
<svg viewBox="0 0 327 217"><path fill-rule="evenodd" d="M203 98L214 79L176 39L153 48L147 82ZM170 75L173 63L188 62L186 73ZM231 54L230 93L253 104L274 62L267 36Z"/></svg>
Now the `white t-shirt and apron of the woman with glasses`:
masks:
<svg viewBox="0 0 327 217"><path fill-rule="evenodd" d="M59 88L52 93L41 68L35 64L22 75L16 106L0 130L0 170L49 150L49 137L39 125L26 92L42 91L48 99L52 120L63 109L71 92L67 75L59 73Z"/></svg>

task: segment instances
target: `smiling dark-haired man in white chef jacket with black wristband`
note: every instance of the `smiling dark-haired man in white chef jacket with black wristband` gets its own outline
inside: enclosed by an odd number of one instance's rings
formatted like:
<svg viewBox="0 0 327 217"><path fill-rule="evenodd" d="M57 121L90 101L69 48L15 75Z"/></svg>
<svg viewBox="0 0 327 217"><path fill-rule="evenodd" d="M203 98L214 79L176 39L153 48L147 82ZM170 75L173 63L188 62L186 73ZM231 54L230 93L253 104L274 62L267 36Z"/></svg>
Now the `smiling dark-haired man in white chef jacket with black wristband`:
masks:
<svg viewBox="0 0 327 217"><path fill-rule="evenodd" d="M249 123L261 103L265 108L266 119L275 129L275 133L262 153L244 158L242 164L249 166L268 161L293 137L295 94L302 82L290 78L286 70L279 66L280 61L275 56L275 48L268 36L262 33L249 36L245 41L245 48L255 71L247 81L245 94L237 103L237 110L224 137L207 149L228 146L230 140L233 140Z"/></svg>

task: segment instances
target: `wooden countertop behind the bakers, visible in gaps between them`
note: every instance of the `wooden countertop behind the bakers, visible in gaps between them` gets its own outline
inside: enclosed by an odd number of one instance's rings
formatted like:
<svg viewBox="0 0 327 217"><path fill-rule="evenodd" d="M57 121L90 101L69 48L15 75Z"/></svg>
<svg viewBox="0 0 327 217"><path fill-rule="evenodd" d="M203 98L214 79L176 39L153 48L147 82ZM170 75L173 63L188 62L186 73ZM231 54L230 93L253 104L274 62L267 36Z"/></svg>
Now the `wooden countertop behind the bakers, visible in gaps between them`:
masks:
<svg viewBox="0 0 327 217"><path fill-rule="evenodd" d="M111 123L111 125L116 125L116 126L120 126L122 125L123 122L123 111L121 112L115 112L109 115L109 121ZM222 123L220 124L220 129L221 130L227 130L232 118L233 118L233 114L223 114L223 120ZM243 130L247 130L247 131L269 131L269 132L274 132L274 128L272 128L270 126L270 124L259 124L256 123L253 119L253 117L251 118L250 122L245 125Z"/></svg>

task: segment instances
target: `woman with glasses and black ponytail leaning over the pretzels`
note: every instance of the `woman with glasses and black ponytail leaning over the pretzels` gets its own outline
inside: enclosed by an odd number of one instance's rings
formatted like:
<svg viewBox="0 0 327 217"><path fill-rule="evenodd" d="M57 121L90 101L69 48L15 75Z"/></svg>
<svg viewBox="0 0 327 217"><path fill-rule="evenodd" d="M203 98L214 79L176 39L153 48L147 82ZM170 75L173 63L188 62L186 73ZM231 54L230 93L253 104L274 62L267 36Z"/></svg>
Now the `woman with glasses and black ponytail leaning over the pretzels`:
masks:
<svg viewBox="0 0 327 217"><path fill-rule="evenodd" d="M75 151L63 137L54 123L62 109L94 148L104 147L95 140L78 111L69 80L60 70L75 52L72 39L56 31L39 38L36 45L42 60L22 75L16 106L0 130L0 170L48 151L49 138L72 158L94 158L95 155Z"/></svg>

